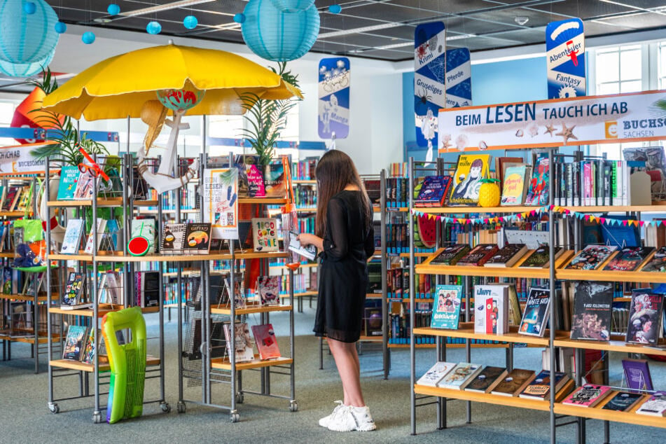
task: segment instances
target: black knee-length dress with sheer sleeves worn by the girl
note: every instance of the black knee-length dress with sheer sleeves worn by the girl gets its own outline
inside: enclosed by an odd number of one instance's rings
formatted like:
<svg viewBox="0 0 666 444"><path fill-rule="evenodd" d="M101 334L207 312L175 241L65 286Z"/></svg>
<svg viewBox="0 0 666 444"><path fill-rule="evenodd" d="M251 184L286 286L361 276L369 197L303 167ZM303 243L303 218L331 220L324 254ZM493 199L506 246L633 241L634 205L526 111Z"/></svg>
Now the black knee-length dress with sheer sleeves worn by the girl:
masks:
<svg viewBox="0 0 666 444"><path fill-rule="evenodd" d="M319 254L316 336L342 342L361 336L367 261L375 252L373 224L366 223L362 208L360 191L342 190L328 202L324 251Z"/></svg>

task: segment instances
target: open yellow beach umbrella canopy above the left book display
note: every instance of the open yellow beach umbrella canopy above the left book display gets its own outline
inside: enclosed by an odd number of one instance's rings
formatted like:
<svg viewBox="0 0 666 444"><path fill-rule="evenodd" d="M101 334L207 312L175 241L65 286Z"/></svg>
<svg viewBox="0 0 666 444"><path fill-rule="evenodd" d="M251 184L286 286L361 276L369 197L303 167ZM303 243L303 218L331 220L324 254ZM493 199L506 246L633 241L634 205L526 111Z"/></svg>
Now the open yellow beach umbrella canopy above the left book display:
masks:
<svg viewBox="0 0 666 444"><path fill-rule="evenodd" d="M262 99L302 97L300 91L266 69L226 51L169 44L116 55L85 69L46 96L43 108L73 118L99 120L141 116L159 90L205 91L185 115L242 114L239 96Z"/></svg>

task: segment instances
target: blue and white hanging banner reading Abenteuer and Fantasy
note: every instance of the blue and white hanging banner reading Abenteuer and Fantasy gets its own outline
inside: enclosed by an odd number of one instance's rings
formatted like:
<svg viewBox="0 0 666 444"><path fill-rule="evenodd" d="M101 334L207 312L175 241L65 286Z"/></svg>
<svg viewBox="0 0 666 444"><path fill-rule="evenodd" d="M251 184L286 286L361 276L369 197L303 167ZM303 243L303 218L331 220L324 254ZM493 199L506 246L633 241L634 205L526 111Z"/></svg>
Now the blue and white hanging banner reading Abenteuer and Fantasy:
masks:
<svg viewBox="0 0 666 444"><path fill-rule="evenodd" d="M546 27L548 99L585 95L585 34L579 18Z"/></svg>

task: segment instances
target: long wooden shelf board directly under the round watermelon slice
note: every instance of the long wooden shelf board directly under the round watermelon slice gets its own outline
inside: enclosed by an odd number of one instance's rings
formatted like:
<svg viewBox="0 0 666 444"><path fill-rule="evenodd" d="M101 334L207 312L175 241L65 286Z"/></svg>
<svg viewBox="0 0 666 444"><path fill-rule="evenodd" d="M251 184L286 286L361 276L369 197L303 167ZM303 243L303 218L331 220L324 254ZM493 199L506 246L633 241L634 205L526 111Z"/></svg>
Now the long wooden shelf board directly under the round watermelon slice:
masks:
<svg viewBox="0 0 666 444"><path fill-rule="evenodd" d="M106 253L106 254L105 254ZM237 251L235 258L258 259L258 258L286 258L288 254L281 251L270 253L259 253L254 251ZM52 261L88 261L92 262L92 254L50 254L48 258ZM129 256L119 251L101 253L95 256L98 262L196 262L196 261L228 261L231 259L229 253L217 254L146 254L146 256Z"/></svg>

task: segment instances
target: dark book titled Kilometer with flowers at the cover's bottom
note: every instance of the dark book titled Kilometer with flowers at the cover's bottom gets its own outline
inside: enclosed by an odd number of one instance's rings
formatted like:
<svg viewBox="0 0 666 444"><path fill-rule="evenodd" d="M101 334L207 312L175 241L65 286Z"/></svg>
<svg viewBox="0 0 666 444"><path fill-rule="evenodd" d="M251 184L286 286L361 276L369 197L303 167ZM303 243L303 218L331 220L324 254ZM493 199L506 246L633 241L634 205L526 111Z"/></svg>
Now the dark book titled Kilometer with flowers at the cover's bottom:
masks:
<svg viewBox="0 0 666 444"><path fill-rule="evenodd" d="M607 341L611 339L613 314L612 282L576 281L571 339Z"/></svg>

